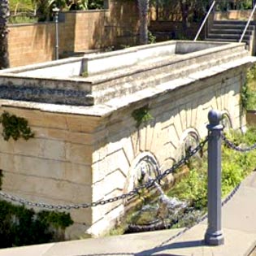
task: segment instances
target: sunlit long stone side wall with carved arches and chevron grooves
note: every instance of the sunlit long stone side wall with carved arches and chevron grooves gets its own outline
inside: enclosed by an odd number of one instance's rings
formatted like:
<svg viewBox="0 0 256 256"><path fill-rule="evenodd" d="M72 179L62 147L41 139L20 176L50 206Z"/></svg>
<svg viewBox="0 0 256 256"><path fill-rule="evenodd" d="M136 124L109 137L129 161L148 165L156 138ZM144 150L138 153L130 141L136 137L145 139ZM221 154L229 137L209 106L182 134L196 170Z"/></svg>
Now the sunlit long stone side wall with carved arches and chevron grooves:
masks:
<svg viewBox="0 0 256 256"><path fill-rule="evenodd" d="M141 162L151 165L155 174L170 168L184 154L189 135L196 135L198 140L206 137L210 109L226 113L232 128L245 126L240 104L244 79L242 73L229 71L146 99L105 119L102 146L93 152L93 202L130 191L140 177L137 170L140 172ZM132 111L145 105L150 106L154 119L137 129ZM124 213L125 202L93 208L89 232L99 236L115 224Z"/></svg>

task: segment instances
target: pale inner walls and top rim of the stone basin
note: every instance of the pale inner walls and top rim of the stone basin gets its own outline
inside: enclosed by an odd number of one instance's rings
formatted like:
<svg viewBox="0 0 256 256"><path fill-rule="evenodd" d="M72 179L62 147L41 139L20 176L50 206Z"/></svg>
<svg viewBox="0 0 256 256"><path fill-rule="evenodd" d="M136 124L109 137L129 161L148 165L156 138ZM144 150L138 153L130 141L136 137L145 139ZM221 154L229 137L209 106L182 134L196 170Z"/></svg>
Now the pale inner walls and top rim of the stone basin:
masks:
<svg viewBox="0 0 256 256"><path fill-rule="evenodd" d="M28 65L25 67L14 67L7 70L0 71L0 76L12 76L12 77L33 77L43 78L46 80L53 79L58 80L61 77L63 80L83 80L85 82L95 83L95 79L91 80L90 77L83 78L80 76L83 72L88 72L88 75L97 75L102 73L113 72L119 70L119 73L125 67L139 66L145 61L152 60L153 58L167 57L176 54L185 54L186 57L182 59L195 58L198 55L212 54L215 51L226 50L230 47L241 46L241 44L227 44L223 42L207 42L207 41L165 41L146 46L134 46L124 50L116 50L112 52L106 52L101 54L85 54L83 57L61 59L46 63L38 63L34 65ZM200 51L200 53L198 53ZM197 53L195 53L197 52ZM174 60L177 61L177 60ZM166 61L167 62L167 61ZM80 68L76 72L67 72L67 67L73 69L74 63L79 63ZM159 63L161 66L163 63L158 60L155 63ZM69 64L69 66L67 66ZM62 76L51 75L48 71L52 68L51 73L56 73L58 70L54 70L54 67L59 67L59 71ZM63 67L63 69L61 69ZM63 74L65 76L63 76ZM125 73L123 74L123 76ZM80 77L76 77L80 76ZM98 78L98 82L102 82Z"/></svg>

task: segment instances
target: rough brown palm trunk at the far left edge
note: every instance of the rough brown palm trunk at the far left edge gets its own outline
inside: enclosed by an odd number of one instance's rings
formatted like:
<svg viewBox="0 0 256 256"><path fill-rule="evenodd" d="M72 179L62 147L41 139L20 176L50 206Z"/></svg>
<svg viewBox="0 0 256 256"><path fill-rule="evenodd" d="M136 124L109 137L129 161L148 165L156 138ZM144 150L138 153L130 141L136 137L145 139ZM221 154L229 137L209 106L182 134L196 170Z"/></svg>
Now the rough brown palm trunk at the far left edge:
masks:
<svg viewBox="0 0 256 256"><path fill-rule="evenodd" d="M10 16L9 1L0 1L0 69L10 67L8 54L8 28L7 22Z"/></svg>

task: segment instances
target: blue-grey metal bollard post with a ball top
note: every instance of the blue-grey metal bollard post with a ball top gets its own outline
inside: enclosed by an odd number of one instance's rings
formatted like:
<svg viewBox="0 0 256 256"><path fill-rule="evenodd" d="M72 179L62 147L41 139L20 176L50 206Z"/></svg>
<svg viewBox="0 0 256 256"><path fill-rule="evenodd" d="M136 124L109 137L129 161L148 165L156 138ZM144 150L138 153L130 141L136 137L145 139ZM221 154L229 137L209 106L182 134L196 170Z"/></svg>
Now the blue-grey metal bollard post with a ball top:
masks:
<svg viewBox="0 0 256 256"><path fill-rule="evenodd" d="M221 230L221 137L222 114L211 110L208 114L208 228L205 234L206 245L223 245Z"/></svg>

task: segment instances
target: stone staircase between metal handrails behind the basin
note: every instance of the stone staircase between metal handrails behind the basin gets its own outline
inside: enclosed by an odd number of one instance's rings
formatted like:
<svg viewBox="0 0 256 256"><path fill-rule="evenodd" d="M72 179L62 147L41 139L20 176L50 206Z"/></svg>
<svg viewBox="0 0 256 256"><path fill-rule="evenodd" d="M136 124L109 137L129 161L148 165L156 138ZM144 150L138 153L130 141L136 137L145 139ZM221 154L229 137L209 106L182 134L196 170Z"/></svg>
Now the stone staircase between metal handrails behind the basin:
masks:
<svg viewBox="0 0 256 256"><path fill-rule="evenodd" d="M208 28L206 41L239 41L246 23L247 21L244 20L214 20L213 24ZM255 22L251 21L243 38L243 42L246 42L251 51L254 51L255 25Z"/></svg>

